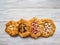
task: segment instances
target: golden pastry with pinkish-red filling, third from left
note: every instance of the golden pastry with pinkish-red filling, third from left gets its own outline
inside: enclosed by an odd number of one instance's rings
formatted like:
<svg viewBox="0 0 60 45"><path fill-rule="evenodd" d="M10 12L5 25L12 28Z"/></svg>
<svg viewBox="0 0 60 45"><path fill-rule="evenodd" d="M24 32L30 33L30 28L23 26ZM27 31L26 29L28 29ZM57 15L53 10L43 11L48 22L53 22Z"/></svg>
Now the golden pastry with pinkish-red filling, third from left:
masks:
<svg viewBox="0 0 60 45"><path fill-rule="evenodd" d="M42 33L41 21L38 18L33 17L29 22L31 28L30 36L35 39L40 37Z"/></svg>

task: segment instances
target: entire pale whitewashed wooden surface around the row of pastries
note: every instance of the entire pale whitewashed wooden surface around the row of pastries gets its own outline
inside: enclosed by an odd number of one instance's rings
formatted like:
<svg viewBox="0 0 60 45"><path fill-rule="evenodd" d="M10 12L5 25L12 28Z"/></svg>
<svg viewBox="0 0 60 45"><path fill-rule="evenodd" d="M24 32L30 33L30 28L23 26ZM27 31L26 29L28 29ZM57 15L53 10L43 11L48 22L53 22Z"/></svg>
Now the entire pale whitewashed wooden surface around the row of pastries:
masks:
<svg viewBox="0 0 60 45"><path fill-rule="evenodd" d="M52 18L56 31L49 38L10 37L4 30L8 20ZM60 0L0 0L0 45L60 45Z"/></svg>

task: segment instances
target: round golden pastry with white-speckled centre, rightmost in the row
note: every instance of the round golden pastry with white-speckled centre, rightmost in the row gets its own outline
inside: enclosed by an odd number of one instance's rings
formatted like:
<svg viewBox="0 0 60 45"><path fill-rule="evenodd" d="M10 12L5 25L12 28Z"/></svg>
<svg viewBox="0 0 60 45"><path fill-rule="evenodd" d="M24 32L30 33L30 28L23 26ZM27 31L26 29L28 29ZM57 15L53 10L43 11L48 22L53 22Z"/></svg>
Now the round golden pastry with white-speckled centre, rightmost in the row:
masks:
<svg viewBox="0 0 60 45"><path fill-rule="evenodd" d="M49 37L55 32L56 26L51 19L41 19L43 25L42 36Z"/></svg>

